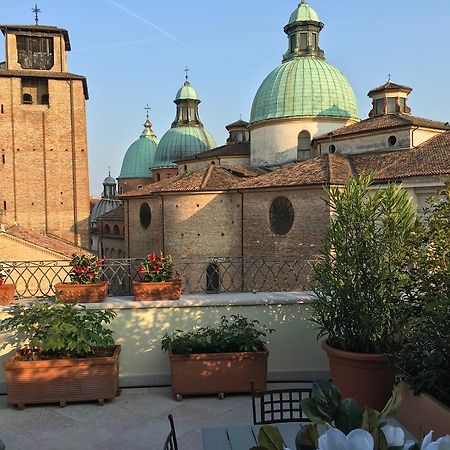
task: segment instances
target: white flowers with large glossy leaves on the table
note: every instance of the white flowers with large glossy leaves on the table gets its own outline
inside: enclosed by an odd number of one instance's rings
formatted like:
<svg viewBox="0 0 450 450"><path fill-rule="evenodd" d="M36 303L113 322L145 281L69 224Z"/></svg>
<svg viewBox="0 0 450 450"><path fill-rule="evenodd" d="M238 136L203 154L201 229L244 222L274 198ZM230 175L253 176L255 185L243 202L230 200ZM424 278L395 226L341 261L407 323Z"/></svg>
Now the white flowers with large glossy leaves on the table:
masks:
<svg viewBox="0 0 450 450"><path fill-rule="evenodd" d="M343 399L339 389L329 381L313 384L312 396L300 401L300 406L312 424L303 426L295 438L296 450L432 450L450 448L450 436L432 443L431 431L416 443L405 441L401 427L387 419L393 415L402 398L394 390L381 412L358 405L351 398ZM250 450L289 450L281 433L273 426L264 425L258 434L258 447Z"/></svg>

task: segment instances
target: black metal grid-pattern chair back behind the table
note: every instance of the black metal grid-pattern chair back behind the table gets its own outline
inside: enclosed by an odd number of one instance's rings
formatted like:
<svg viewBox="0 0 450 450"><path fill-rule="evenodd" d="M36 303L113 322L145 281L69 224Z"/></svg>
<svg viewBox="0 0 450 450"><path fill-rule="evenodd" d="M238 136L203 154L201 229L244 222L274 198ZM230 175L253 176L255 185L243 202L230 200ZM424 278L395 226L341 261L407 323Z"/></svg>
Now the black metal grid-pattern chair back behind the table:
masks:
<svg viewBox="0 0 450 450"><path fill-rule="evenodd" d="M253 381L251 382L251 387L254 425L310 422L300 408L300 400L311 397L312 388L255 391L255 383Z"/></svg>

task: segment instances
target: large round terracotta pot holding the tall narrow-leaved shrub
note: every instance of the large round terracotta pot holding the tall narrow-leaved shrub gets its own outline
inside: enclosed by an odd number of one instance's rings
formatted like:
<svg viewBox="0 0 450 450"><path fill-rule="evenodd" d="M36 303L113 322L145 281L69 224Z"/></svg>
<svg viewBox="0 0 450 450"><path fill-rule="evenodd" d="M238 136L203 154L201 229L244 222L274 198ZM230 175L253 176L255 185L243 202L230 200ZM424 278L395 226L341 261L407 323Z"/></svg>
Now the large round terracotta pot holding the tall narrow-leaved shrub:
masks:
<svg viewBox="0 0 450 450"><path fill-rule="evenodd" d="M362 408L382 411L394 385L394 375L384 355L345 352L325 341L322 348L330 361L331 379L342 397L355 399Z"/></svg>

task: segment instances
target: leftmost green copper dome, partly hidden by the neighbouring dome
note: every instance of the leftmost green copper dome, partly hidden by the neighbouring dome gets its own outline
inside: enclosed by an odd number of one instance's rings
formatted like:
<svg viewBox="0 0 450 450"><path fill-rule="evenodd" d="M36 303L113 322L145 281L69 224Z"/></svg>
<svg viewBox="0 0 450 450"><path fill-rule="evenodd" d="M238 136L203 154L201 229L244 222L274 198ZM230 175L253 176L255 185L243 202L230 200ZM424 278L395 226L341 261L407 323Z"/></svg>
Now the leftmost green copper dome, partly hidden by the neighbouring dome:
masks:
<svg viewBox="0 0 450 450"><path fill-rule="evenodd" d="M133 142L123 158L119 179L151 178L158 139L147 119L141 137Z"/></svg>

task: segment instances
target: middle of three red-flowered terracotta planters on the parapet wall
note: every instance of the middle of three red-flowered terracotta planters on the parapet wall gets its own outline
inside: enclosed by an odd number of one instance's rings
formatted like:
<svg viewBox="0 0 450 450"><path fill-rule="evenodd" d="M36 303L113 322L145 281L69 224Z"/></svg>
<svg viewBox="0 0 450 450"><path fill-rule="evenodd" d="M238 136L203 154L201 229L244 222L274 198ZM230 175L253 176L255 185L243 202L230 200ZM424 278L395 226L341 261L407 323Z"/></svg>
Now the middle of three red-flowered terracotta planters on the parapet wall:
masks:
<svg viewBox="0 0 450 450"><path fill-rule="evenodd" d="M107 281L99 281L102 263L96 256L72 255L69 272L71 283L57 283L55 292L60 300L68 303L97 303L108 293Z"/></svg>

